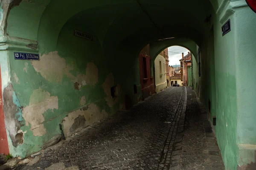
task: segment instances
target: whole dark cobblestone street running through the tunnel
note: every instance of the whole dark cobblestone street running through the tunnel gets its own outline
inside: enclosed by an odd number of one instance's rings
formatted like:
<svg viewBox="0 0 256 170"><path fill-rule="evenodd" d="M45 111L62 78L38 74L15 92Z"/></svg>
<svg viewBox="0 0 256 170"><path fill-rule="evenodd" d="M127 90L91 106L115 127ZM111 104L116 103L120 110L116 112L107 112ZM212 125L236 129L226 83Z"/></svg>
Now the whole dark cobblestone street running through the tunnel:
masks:
<svg viewBox="0 0 256 170"><path fill-rule="evenodd" d="M184 87L167 88L38 157L32 166L14 169L224 170L207 113Z"/></svg>

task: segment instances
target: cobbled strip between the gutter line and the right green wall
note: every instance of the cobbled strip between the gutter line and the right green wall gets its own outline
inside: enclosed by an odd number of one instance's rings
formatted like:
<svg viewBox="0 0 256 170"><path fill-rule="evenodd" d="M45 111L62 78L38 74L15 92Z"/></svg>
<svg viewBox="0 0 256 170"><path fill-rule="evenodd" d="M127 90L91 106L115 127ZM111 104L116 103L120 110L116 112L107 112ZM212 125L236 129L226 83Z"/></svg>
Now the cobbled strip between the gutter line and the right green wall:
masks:
<svg viewBox="0 0 256 170"><path fill-rule="evenodd" d="M175 140L169 170L224 170L207 112L191 88L187 93L185 122L179 129L183 137Z"/></svg>

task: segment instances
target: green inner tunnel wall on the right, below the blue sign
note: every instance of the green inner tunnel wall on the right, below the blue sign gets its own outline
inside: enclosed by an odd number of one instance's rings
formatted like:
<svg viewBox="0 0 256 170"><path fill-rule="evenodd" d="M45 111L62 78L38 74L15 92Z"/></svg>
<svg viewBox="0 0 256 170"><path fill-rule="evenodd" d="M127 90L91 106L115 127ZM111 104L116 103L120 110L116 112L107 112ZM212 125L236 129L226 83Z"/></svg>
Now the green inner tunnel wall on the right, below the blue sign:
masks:
<svg viewBox="0 0 256 170"><path fill-rule="evenodd" d="M222 158L227 169L237 167L238 147L236 144L237 129L237 94L235 78L234 34L231 32L222 37L218 18L213 16L213 30L209 39L201 47L200 98L205 107L211 103L210 121L216 116L215 133ZM230 16L230 20L233 17ZM226 21L225 21L226 22ZM231 28L235 27L231 22ZM214 39L211 34L214 34ZM214 43L214 45L213 45ZM223 48L225 47L225 48Z"/></svg>

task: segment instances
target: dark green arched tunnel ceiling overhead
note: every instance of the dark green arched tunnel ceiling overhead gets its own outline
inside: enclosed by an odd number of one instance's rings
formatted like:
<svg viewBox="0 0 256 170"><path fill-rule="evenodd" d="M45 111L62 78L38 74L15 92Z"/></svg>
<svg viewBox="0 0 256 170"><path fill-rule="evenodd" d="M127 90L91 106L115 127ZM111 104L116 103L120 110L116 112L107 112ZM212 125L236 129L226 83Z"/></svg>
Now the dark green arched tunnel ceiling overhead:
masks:
<svg viewBox="0 0 256 170"><path fill-rule="evenodd" d="M127 45L138 51L145 43L167 37L187 37L200 43L208 29L204 19L212 11L208 0L52 0L41 17L38 42L41 52L54 50L64 24L79 17L106 52Z"/></svg>

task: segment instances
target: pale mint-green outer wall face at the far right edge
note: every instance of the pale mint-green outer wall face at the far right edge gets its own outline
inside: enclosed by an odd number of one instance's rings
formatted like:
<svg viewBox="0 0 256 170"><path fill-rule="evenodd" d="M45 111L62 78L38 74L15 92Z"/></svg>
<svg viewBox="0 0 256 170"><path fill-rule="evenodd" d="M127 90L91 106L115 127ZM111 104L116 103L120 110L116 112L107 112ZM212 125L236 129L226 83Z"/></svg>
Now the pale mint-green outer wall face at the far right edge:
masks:
<svg viewBox="0 0 256 170"><path fill-rule="evenodd" d="M233 23L236 25L233 57L236 68L240 68L236 69L238 163L239 167L250 169L256 167L256 14L248 7L239 8Z"/></svg>

